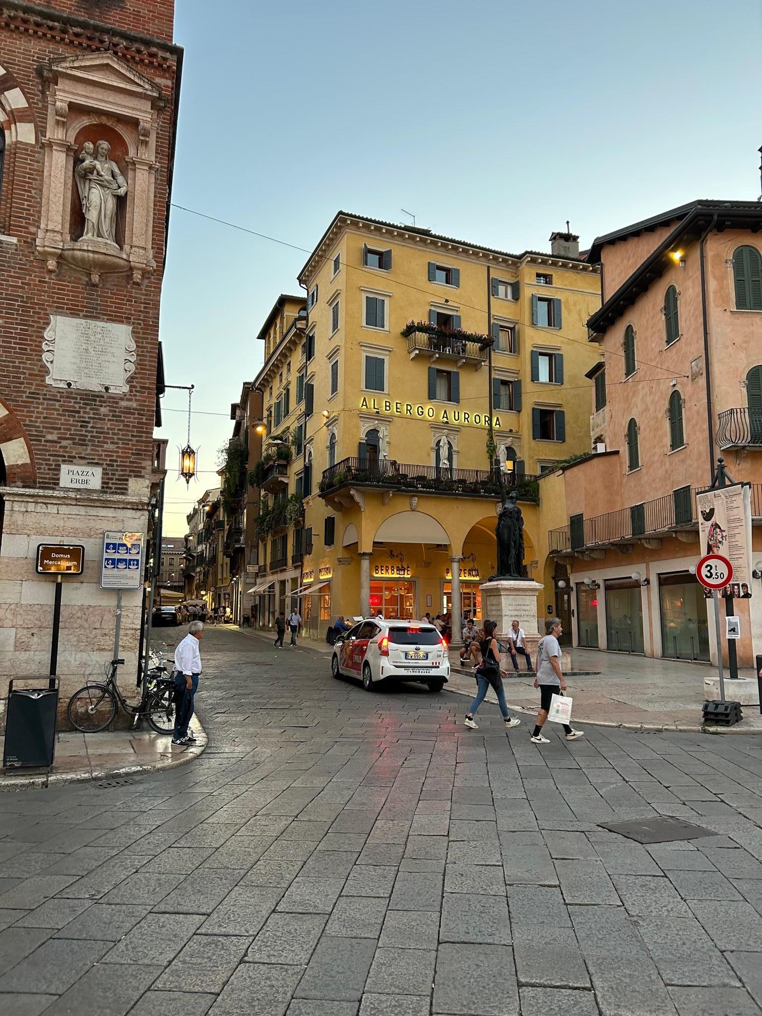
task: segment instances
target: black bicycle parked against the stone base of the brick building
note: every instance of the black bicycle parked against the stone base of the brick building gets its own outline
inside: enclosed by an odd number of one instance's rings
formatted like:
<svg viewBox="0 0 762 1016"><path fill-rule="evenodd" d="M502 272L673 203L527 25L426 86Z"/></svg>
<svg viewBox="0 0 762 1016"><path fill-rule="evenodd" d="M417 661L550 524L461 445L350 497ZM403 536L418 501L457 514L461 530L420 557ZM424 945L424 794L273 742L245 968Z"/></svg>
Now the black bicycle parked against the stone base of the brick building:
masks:
<svg viewBox="0 0 762 1016"><path fill-rule="evenodd" d="M116 682L117 668L123 659L112 659L105 666L106 681L87 684L69 699L66 712L71 725L82 734L98 734L113 721L118 710L134 717L133 725L145 719L156 734L172 734L175 728L174 682L158 657L158 665L148 672L148 680L138 703L128 702Z"/></svg>

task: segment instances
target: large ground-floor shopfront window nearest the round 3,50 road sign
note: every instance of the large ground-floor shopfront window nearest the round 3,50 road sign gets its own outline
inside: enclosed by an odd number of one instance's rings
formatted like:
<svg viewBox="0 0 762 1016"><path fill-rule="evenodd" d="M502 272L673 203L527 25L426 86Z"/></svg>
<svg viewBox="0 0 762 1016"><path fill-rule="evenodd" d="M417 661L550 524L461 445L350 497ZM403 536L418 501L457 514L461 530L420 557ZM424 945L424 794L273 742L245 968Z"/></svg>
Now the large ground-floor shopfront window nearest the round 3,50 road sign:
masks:
<svg viewBox="0 0 762 1016"><path fill-rule="evenodd" d="M659 575L661 655L709 661L709 624L704 591L695 575Z"/></svg>

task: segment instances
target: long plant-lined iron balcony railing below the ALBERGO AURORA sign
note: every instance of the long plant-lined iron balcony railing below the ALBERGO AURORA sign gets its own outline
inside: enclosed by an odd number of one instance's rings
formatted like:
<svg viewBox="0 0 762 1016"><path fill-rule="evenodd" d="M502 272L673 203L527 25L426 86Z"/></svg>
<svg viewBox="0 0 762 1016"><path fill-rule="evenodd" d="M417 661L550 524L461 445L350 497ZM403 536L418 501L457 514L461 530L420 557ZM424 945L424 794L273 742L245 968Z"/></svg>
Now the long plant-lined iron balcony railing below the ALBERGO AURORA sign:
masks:
<svg viewBox="0 0 762 1016"><path fill-rule="evenodd" d="M539 485L532 473L505 473L505 486L521 501L536 504ZM450 469L434 465L410 465L395 459L342 458L329 466L320 481L325 497L341 487L375 487L385 491L499 498L500 482L488 469Z"/></svg>

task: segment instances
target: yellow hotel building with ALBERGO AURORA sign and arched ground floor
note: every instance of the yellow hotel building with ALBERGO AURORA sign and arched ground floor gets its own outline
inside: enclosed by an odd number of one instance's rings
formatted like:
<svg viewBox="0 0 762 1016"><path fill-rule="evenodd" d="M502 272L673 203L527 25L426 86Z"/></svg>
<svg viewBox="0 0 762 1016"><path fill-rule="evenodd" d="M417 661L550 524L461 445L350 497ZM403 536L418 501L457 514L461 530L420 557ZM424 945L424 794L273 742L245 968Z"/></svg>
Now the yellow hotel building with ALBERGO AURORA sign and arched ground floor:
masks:
<svg viewBox="0 0 762 1016"><path fill-rule="evenodd" d="M278 588L312 633L376 610L481 619L497 561L491 454L518 494L527 574L548 582L537 478L589 450L585 322L600 304L577 238L551 239L550 254L511 255L339 212L302 269L295 337L272 336L260 378L276 433L285 363L304 377L304 402L280 417L302 425L287 471L303 553Z"/></svg>

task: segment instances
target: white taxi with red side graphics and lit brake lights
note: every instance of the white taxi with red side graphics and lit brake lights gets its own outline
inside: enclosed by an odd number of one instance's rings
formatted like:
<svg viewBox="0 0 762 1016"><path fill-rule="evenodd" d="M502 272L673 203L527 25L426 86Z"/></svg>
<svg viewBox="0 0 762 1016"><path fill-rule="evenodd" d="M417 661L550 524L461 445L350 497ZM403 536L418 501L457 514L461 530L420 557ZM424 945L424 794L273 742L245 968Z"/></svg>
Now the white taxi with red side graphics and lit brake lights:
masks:
<svg viewBox="0 0 762 1016"><path fill-rule="evenodd" d="M441 692L450 677L447 643L434 625L368 619L336 638L331 674L360 678L366 691L393 680L414 681Z"/></svg>

